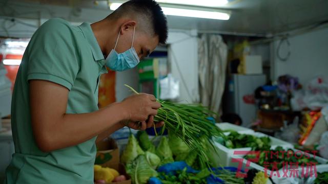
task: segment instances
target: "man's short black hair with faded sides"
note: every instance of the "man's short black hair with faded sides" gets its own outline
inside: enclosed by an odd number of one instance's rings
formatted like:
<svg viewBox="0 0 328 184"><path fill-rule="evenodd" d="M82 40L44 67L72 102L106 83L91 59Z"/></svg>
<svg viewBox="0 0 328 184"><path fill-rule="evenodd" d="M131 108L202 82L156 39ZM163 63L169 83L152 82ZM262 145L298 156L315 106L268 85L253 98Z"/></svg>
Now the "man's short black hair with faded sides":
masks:
<svg viewBox="0 0 328 184"><path fill-rule="evenodd" d="M131 0L122 4L111 15L119 17L126 14L140 15L140 21L146 21L144 22L146 28L142 29L152 29L147 31L158 35L159 43L166 43L168 39L168 21L157 2L153 0Z"/></svg>

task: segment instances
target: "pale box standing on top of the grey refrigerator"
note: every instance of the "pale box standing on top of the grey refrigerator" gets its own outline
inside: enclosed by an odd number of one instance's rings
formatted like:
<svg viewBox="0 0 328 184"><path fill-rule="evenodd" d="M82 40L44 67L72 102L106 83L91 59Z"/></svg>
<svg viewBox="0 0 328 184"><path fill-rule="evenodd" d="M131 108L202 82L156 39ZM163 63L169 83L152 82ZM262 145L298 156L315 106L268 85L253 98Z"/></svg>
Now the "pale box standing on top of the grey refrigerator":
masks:
<svg viewBox="0 0 328 184"><path fill-rule="evenodd" d="M245 74L262 73L262 57L260 55L245 56Z"/></svg>

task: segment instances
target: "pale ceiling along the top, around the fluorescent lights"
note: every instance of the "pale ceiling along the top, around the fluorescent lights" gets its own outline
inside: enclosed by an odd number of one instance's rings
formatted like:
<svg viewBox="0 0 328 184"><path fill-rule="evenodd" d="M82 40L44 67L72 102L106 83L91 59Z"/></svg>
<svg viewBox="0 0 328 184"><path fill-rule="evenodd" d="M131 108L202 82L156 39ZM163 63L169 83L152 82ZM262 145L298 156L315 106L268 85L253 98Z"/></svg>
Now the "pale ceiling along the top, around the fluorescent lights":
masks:
<svg viewBox="0 0 328 184"><path fill-rule="evenodd" d="M229 20L168 16L169 28L267 35L328 20L326 0L231 0L220 8L231 11ZM0 16L7 17L94 22L110 12L107 1L0 0Z"/></svg>

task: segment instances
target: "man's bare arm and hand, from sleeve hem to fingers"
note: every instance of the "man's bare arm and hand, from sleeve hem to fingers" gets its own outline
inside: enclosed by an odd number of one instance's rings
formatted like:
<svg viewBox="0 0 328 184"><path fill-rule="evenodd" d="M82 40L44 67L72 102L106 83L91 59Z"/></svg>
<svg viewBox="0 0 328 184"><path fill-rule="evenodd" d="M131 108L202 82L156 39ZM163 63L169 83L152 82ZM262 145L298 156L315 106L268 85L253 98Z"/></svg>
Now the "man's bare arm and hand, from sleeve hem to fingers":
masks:
<svg viewBox="0 0 328 184"><path fill-rule="evenodd" d="M29 85L33 134L45 152L83 143L104 130L116 131L126 121L140 121L141 129L146 129L146 120L160 107L153 96L142 94L95 112L66 114L66 87L44 80L30 80ZM133 124L132 128L137 127Z"/></svg>

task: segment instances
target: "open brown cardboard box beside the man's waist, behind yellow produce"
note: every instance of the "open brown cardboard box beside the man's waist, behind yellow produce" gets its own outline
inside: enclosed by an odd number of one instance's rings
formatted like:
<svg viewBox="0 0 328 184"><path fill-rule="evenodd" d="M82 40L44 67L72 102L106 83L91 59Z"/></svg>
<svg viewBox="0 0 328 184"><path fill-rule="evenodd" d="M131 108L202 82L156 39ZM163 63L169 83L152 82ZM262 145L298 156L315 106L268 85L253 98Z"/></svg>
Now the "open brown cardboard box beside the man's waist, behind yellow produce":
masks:
<svg viewBox="0 0 328 184"><path fill-rule="evenodd" d="M124 165L119 163L119 150L113 139L100 141L96 144L97 154L95 164L101 167L109 167L118 171L120 175L125 175L127 180L120 182L112 182L113 184L131 184L131 179L126 173Z"/></svg>

